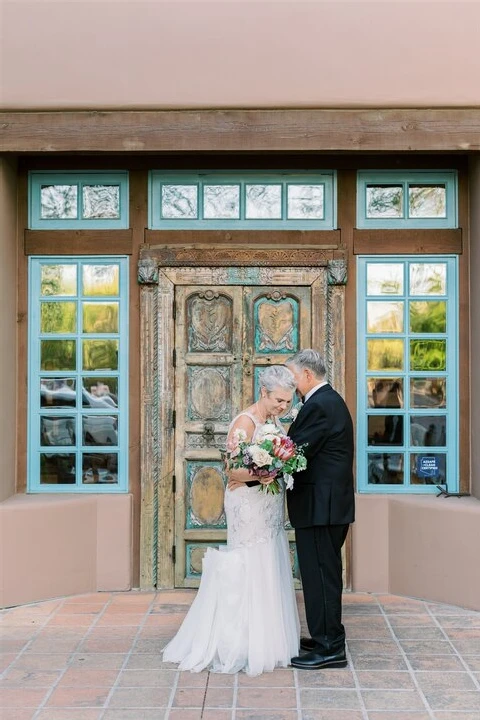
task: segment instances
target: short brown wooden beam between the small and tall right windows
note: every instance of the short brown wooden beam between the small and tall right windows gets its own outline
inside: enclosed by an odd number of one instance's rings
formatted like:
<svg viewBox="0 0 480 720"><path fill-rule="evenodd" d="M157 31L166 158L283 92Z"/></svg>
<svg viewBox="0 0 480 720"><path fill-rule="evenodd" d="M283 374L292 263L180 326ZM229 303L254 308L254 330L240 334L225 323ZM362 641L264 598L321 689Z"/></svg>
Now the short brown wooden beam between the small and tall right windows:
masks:
<svg viewBox="0 0 480 720"><path fill-rule="evenodd" d="M355 255L419 255L463 251L459 230L354 230Z"/></svg>

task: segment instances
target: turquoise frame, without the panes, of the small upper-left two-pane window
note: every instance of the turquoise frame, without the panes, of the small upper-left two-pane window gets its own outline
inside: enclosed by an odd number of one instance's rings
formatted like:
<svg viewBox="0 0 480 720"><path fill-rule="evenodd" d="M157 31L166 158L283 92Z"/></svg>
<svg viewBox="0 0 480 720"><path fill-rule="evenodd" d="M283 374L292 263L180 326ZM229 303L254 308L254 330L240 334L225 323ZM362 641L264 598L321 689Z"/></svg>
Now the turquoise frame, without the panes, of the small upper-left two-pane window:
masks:
<svg viewBox="0 0 480 720"><path fill-rule="evenodd" d="M120 216L118 218L42 218L42 185L76 185L78 208L81 215L82 189L84 185L119 185ZM128 172L103 172L74 170L41 172L33 170L28 176L28 226L31 230L125 230L129 227Z"/></svg>

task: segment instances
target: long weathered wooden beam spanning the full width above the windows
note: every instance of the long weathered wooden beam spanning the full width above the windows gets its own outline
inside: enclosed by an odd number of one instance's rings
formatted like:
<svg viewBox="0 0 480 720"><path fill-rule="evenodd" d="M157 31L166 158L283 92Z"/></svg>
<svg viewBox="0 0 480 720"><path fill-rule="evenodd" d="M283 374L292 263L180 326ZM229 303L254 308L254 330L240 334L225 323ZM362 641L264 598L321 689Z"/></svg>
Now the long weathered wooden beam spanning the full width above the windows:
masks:
<svg viewBox="0 0 480 720"><path fill-rule="evenodd" d="M480 149L480 108L0 113L0 152Z"/></svg>

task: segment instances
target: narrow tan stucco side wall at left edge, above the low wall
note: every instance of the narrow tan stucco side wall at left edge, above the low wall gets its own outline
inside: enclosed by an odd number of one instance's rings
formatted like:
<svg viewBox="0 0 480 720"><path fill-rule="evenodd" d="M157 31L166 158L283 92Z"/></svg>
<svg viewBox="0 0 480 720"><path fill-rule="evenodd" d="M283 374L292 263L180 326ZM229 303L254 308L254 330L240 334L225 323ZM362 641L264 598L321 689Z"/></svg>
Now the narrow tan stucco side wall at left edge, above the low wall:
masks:
<svg viewBox="0 0 480 720"><path fill-rule="evenodd" d="M15 492L16 186L15 163L0 157L0 502Z"/></svg>

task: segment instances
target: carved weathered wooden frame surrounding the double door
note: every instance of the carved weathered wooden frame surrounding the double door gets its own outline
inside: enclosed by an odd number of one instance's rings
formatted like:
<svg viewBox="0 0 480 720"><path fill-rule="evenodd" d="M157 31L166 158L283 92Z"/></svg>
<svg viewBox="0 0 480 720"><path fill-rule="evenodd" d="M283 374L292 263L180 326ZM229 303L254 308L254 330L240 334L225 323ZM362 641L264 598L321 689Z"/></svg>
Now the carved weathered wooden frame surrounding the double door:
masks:
<svg viewBox="0 0 480 720"><path fill-rule="evenodd" d="M140 586L174 587L174 317L177 285L307 285L312 345L345 392L345 284L338 250L145 247L138 262L141 355Z"/></svg>

